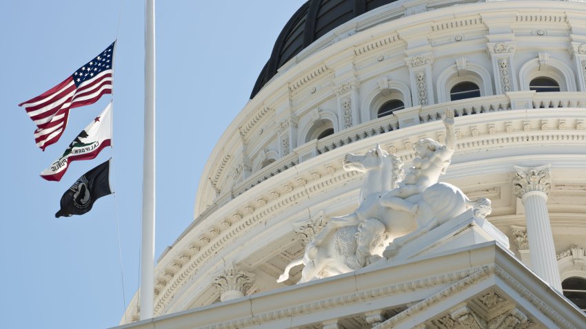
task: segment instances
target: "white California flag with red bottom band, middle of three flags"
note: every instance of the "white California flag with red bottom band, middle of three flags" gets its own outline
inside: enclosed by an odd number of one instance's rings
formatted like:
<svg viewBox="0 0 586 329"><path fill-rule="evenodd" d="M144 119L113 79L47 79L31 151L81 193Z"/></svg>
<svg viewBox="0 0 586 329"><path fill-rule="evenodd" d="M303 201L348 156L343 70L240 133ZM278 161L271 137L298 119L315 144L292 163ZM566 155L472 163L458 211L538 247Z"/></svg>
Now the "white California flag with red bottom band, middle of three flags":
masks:
<svg viewBox="0 0 586 329"><path fill-rule="evenodd" d="M69 162L74 160L91 160L98 156L100 151L112 143L112 103L108 104L103 112L85 127L71 142L59 159L41 173L46 180L59 182Z"/></svg>

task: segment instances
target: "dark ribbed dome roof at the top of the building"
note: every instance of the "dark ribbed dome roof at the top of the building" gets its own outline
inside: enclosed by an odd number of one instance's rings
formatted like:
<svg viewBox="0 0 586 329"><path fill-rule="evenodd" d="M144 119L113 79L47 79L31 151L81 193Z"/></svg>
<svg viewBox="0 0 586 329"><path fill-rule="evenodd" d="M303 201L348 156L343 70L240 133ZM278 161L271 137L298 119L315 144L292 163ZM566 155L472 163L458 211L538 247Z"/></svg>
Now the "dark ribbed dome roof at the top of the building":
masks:
<svg viewBox="0 0 586 329"><path fill-rule="evenodd" d="M309 0L293 14L274 43L270 59L256 79L250 98L283 64L323 34L365 12L396 0Z"/></svg>

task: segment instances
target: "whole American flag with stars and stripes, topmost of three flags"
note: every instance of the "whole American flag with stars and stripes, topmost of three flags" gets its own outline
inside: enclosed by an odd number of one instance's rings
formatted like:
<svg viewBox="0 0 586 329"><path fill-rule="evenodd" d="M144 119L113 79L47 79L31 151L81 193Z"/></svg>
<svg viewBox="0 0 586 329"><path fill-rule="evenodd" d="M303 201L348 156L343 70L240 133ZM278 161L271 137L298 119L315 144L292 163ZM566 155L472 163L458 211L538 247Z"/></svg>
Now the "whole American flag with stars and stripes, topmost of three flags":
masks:
<svg viewBox="0 0 586 329"><path fill-rule="evenodd" d="M59 85L19 104L37 125L34 141L43 151L63 134L70 109L96 103L103 94L112 94L114 43Z"/></svg>

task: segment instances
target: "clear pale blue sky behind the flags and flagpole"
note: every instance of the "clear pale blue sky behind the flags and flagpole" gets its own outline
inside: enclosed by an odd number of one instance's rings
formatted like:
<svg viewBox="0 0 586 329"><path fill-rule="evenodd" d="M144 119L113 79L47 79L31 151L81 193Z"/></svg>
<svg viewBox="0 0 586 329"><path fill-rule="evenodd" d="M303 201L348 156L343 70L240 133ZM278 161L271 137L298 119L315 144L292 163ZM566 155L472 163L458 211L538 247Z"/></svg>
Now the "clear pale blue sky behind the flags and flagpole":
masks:
<svg viewBox="0 0 586 329"><path fill-rule="evenodd" d="M156 4L156 257L190 224L212 148L247 103L281 28L303 0ZM143 153L143 1L1 1L0 328L107 328L139 286ZM23 100L45 92L118 37L114 148L73 162L61 182L39 173L110 100L73 109L42 152ZM63 192L113 158L110 195L83 216L54 218ZM114 202L115 200L115 202Z"/></svg>

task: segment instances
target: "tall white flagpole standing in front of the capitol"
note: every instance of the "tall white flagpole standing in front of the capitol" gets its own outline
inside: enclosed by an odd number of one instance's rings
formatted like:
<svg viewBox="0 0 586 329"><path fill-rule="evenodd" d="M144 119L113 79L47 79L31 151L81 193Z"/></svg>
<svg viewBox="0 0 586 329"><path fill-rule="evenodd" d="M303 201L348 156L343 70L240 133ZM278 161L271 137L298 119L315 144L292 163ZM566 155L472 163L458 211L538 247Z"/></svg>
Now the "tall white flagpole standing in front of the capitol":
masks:
<svg viewBox="0 0 586 329"><path fill-rule="evenodd" d="M145 129L143 153L143 219L141 243L141 320L153 317L155 206L155 53L154 0L145 0Z"/></svg>

